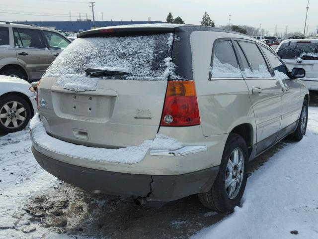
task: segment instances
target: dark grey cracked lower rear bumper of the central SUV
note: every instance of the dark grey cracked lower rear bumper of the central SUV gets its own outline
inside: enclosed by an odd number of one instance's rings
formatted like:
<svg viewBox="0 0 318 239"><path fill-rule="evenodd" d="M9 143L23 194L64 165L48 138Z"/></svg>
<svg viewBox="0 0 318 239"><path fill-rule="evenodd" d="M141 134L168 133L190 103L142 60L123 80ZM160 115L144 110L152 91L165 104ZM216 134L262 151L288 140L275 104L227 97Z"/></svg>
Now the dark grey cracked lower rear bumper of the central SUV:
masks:
<svg viewBox="0 0 318 239"><path fill-rule="evenodd" d="M110 172L65 163L38 152L37 162L57 178L84 188L117 196L147 197L149 201L169 202L207 192L215 181L219 166L181 175L143 175Z"/></svg>

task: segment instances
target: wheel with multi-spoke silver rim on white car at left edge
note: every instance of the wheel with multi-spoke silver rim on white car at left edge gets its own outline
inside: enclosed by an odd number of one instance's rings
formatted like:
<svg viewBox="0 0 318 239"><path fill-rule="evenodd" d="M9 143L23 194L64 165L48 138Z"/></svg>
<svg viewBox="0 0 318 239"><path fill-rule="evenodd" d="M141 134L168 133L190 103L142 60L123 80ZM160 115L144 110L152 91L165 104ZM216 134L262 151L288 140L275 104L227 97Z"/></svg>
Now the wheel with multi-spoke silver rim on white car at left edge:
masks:
<svg viewBox="0 0 318 239"><path fill-rule="evenodd" d="M30 118L30 106L22 97L7 95L0 98L0 132L20 131L29 123Z"/></svg>

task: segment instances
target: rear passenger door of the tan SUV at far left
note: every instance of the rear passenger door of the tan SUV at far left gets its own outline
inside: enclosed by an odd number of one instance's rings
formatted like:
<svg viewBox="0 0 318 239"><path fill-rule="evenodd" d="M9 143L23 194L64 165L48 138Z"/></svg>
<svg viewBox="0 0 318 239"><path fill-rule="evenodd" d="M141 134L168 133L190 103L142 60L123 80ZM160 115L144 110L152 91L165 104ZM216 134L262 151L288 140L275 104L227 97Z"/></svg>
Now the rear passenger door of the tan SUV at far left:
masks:
<svg viewBox="0 0 318 239"><path fill-rule="evenodd" d="M53 60L41 31L13 28L13 32L18 61L27 68L31 80L40 79Z"/></svg>

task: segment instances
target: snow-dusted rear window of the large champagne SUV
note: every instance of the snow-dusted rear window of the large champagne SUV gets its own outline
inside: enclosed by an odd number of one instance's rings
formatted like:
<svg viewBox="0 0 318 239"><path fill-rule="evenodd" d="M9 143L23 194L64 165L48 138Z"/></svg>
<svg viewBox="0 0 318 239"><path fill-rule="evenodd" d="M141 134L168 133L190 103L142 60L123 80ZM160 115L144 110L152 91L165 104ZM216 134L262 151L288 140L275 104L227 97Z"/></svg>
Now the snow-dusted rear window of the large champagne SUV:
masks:
<svg viewBox="0 0 318 239"><path fill-rule="evenodd" d="M103 79L166 81L173 75L173 33L78 38L53 62L45 76L85 77L84 69L121 71Z"/></svg>

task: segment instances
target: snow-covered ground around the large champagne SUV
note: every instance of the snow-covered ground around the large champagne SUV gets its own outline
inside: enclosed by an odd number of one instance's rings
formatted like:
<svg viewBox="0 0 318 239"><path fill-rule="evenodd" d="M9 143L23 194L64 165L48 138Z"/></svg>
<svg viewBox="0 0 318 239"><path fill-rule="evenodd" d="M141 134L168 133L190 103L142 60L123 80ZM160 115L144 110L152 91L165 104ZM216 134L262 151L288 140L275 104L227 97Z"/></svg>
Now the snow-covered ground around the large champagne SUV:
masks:
<svg viewBox="0 0 318 239"><path fill-rule="evenodd" d="M309 109L304 139L284 144L248 178L242 208L221 215L204 209L196 197L160 210L111 196L96 196L87 203L91 195L62 183L36 163L28 128L0 136L0 238L124 238L119 231L131 238L187 238L224 216L193 239L318 238L318 108ZM98 225L103 233L82 232L95 218L106 216L98 222L106 225Z"/></svg>

